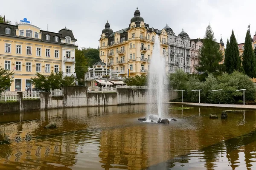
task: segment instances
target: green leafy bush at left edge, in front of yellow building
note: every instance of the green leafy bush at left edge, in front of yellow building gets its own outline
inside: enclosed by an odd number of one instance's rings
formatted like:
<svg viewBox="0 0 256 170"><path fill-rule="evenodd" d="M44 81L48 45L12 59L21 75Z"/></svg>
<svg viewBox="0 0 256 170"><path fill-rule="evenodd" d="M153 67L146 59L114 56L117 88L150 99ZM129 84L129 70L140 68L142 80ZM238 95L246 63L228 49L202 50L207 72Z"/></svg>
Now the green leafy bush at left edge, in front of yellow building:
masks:
<svg viewBox="0 0 256 170"><path fill-rule="evenodd" d="M12 85L13 80L11 79L11 76L13 74L14 73L12 71L0 68L0 93L3 92L6 87L10 87Z"/></svg>

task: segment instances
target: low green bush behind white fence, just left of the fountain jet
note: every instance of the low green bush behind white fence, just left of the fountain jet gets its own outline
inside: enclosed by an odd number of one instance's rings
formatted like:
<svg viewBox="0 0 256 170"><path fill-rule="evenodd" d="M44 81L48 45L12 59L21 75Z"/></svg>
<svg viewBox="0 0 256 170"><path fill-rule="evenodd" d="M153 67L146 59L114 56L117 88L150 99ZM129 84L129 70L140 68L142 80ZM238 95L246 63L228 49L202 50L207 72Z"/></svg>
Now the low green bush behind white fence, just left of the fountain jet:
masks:
<svg viewBox="0 0 256 170"><path fill-rule="evenodd" d="M145 86L147 85L147 80L148 80L148 77L146 75L141 75L141 76L134 76L134 77L125 77L124 78L124 82L126 85L137 85L137 86Z"/></svg>

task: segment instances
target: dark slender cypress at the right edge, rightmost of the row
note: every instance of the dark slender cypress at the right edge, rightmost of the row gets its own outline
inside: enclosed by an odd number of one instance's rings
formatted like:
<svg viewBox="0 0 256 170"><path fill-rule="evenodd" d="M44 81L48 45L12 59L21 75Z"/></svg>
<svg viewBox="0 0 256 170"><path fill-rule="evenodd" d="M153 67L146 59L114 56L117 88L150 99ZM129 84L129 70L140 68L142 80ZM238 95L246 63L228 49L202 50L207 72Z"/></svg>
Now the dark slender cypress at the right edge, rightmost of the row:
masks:
<svg viewBox="0 0 256 170"><path fill-rule="evenodd" d="M256 67L255 67L255 57L253 53L252 41L250 37L250 32L247 31L245 42L244 42L244 53L243 53L243 68L245 74L253 78L256 76Z"/></svg>

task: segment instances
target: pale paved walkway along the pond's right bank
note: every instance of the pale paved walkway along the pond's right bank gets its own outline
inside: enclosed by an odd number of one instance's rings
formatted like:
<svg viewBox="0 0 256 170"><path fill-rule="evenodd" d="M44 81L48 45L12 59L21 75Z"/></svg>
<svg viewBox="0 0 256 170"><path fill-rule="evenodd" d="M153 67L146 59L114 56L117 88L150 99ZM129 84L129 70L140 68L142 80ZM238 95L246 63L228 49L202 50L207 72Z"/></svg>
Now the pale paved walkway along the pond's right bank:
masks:
<svg viewBox="0 0 256 170"><path fill-rule="evenodd" d="M168 103L185 104L185 105L192 105L192 106L256 109L256 105L229 105L229 104L185 103L185 102L183 102L183 103L181 103L181 102L168 102Z"/></svg>

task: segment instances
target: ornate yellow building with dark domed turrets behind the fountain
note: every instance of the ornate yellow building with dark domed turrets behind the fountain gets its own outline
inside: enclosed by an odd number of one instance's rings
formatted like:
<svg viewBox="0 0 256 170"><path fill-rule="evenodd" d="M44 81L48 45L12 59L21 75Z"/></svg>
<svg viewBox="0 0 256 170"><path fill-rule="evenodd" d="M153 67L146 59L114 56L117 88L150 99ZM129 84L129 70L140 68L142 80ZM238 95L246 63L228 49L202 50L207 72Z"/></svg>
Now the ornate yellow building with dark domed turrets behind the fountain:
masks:
<svg viewBox="0 0 256 170"><path fill-rule="evenodd" d="M167 59L166 31L149 28L143 17L140 17L138 9L134 12L128 28L113 32L107 22L99 40L100 59L107 63L111 74L115 74L113 76L126 76L128 69L130 76L146 74L150 69L157 34L160 37L163 57Z"/></svg>

